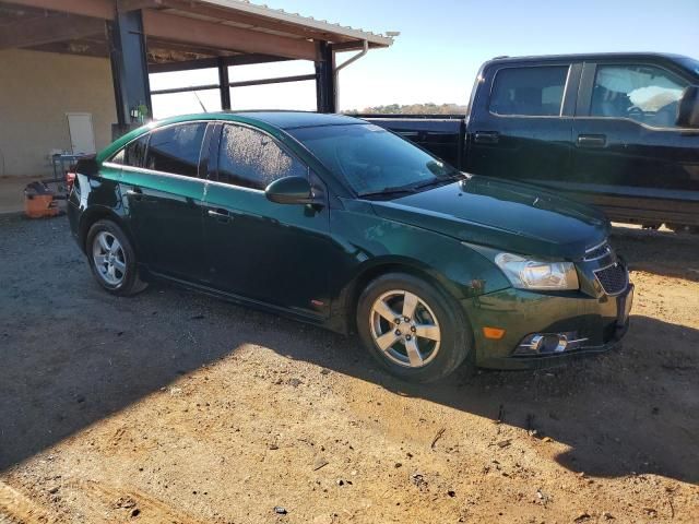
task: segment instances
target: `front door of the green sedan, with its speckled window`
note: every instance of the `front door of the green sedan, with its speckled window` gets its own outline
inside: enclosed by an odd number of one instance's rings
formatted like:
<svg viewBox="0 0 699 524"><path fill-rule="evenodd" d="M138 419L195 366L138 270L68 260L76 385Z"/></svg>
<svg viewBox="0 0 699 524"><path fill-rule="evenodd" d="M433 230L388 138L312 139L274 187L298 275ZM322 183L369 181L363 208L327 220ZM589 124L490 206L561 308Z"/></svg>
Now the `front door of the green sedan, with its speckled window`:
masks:
<svg viewBox="0 0 699 524"><path fill-rule="evenodd" d="M332 241L328 206L277 204L264 188L308 167L272 136L224 124L204 217L214 285L307 317L329 314ZM212 153L213 155L213 153ZM316 191L323 191L320 181Z"/></svg>

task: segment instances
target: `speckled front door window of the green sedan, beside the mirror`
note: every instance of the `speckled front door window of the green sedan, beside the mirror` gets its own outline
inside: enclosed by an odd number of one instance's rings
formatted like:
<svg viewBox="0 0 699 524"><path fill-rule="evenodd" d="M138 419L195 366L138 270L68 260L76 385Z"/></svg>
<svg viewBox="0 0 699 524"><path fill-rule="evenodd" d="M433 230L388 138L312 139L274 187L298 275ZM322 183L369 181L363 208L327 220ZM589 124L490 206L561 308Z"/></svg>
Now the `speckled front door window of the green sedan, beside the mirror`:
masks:
<svg viewBox="0 0 699 524"><path fill-rule="evenodd" d="M304 164L266 134L241 126L225 126L218 154L218 180L244 188L266 188L291 176L307 177Z"/></svg>

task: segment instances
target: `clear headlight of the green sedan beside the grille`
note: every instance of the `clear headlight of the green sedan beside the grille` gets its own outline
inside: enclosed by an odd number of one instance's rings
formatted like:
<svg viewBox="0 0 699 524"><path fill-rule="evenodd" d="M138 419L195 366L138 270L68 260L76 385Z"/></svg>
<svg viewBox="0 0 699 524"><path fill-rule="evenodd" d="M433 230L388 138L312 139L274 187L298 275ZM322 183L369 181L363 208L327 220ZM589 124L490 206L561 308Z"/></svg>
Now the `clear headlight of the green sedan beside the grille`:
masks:
<svg viewBox="0 0 699 524"><path fill-rule="evenodd" d="M578 289L578 273L572 262L545 262L519 254L499 253L495 263L514 287L520 289Z"/></svg>

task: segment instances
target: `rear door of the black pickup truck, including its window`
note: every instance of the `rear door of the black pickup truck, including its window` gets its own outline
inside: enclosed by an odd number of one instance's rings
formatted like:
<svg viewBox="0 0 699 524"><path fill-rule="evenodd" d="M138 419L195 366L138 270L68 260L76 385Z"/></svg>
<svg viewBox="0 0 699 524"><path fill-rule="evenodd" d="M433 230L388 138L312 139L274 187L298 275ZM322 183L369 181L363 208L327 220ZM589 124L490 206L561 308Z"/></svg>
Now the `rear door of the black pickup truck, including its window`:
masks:
<svg viewBox="0 0 699 524"><path fill-rule="evenodd" d="M467 126L470 172L548 186L570 172L580 64L486 67Z"/></svg>

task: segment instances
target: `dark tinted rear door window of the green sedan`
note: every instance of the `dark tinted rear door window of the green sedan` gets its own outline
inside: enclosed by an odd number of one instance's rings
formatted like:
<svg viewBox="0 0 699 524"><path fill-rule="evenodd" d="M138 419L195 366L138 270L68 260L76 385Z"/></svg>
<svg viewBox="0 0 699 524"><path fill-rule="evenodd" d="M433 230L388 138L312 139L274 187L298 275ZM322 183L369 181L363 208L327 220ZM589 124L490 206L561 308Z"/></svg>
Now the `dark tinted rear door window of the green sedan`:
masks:
<svg viewBox="0 0 699 524"><path fill-rule="evenodd" d="M206 122L183 123L151 133L145 167L196 177Z"/></svg>

